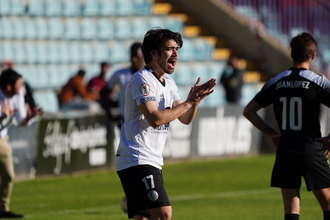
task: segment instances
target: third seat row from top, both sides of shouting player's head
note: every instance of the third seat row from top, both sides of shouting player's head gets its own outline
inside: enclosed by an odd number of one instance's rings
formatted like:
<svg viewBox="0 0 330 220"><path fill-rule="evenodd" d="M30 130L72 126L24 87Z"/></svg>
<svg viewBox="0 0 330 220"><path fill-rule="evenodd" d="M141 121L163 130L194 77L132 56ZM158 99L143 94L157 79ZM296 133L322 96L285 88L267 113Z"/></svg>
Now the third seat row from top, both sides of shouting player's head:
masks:
<svg viewBox="0 0 330 220"><path fill-rule="evenodd" d="M183 39L179 60L212 60L214 45L201 38ZM0 42L0 60L19 64L112 63L129 61L132 40Z"/></svg>

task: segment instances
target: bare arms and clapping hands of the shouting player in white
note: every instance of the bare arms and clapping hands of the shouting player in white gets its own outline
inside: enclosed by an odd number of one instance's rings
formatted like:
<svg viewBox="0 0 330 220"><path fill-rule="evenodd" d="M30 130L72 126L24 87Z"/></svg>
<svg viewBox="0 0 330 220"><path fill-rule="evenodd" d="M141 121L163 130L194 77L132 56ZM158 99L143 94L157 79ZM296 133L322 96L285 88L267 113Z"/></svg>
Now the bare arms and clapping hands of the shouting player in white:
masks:
<svg viewBox="0 0 330 220"><path fill-rule="evenodd" d="M157 128L163 124L169 123L176 118L179 118L182 114L187 114L181 117L179 120L184 124L189 124L194 118L198 104L214 90L211 90L215 86L215 79L210 79L202 85L199 85L201 78L198 78L194 87L190 90L187 100L183 102L175 102L172 109L158 110L157 102L151 101L139 105L139 109L146 117L149 125L153 128Z"/></svg>

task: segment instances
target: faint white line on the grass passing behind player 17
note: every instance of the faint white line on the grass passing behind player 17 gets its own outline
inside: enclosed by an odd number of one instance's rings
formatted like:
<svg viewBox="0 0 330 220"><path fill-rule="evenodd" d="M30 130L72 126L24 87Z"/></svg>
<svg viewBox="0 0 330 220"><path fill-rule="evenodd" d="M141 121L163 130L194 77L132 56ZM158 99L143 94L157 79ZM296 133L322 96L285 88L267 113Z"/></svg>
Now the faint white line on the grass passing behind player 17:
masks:
<svg viewBox="0 0 330 220"><path fill-rule="evenodd" d="M210 194L191 194L191 195L170 197L170 201L259 195L259 194L274 193L274 192L279 192L279 191L280 191L280 189L278 189L278 188L264 188L264 189L230 191L230 192L216 193L216 194L211 194L211 195ZM118 205L107 205L107 206L81 208L81 209L65 209L65 210L58 210L58 211L42 212L42 213L37 213L37 214L27 214L24 216L25 216L25 218L34 218L34 217L43 217L43 216L51 216L51 215L81 214L84 212L106 211L106 210L117 209L117 208L120 208L119 202L118 202Z"/></svg>

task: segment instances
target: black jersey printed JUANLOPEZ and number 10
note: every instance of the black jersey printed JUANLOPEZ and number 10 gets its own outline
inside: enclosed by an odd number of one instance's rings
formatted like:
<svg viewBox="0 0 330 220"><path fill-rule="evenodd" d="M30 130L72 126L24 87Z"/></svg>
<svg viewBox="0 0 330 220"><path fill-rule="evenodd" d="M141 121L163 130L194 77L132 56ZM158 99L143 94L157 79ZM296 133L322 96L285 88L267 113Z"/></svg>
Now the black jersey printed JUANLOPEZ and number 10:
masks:
<svg viewBox="0 0 330 220"><path fill-rule="evenodd" d="M263 108L273 104L282 134L278 148L306 154L320 144L315 141L321 137L320 103L330 107L330 82L325 76L291 68L266 82L253 99ZM318 150L323 154L322 146Z"/></svg>

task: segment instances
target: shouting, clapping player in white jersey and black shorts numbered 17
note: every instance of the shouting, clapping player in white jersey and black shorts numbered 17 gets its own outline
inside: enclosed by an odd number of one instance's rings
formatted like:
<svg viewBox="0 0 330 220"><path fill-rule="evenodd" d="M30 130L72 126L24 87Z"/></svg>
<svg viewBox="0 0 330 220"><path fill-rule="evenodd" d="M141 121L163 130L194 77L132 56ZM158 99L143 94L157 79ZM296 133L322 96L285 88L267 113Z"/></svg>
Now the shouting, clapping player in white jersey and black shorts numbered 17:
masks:
<svg viewBox="0 0 330 220"><path fill-rule="evenodd" d="M191 123L198 104L214 91L215 79L199 85L199 77L186 101L181 99L174 80L165 73L173 73L182 43L177 32L149 30L141 46L146 66L126 86L116 171L127 197L129 219L171 219L161 170L169 123L176 118Z"/></svg>

